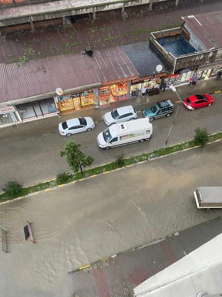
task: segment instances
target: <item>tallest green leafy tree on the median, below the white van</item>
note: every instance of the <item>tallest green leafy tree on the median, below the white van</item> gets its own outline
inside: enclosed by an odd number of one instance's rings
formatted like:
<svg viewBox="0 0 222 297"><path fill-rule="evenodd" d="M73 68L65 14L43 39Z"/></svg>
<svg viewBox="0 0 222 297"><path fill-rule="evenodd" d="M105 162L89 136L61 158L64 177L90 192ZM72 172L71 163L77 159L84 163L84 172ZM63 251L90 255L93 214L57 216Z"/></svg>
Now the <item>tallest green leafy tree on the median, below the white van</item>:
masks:
<svg viewBox="0 0 222 297"><path fill-rule="evenodd" d="M86 157L84 152L80 148L80 144L76 144L74 141L69 140L66 143L65 149L60 151L60 156L63 157L66 155L67 163L70 165L72 170L76 173L81 170L83 174L82 167L92 165L94 158L92 156Z"/></svg>

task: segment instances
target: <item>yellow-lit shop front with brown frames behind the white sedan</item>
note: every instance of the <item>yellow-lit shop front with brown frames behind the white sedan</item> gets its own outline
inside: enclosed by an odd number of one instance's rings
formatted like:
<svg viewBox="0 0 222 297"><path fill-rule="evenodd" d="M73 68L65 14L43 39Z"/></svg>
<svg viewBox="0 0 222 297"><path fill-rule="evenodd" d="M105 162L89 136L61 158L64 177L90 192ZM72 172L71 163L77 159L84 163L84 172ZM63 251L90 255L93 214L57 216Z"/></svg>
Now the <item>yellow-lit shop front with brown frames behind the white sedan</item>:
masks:
<svg viewBox="0 0 222 297"><path fill-rule="evenodd" d="M79 110L94 106L94 94L92 90L57 97L58 108L63 111Z"/></svg>

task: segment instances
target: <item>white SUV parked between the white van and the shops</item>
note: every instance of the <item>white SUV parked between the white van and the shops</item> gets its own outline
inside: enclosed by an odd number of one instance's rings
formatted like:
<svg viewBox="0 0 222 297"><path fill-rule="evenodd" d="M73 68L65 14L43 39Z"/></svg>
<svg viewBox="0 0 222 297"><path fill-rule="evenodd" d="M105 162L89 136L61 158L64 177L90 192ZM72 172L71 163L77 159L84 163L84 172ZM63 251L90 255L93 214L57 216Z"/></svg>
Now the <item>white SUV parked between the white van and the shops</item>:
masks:
<svg viewBox="0 0 222 297"><path fill-rule="evenodd" d="M137 111L132 105L119 107L104 115L105 123L110 126L137 118Z"/></svg>

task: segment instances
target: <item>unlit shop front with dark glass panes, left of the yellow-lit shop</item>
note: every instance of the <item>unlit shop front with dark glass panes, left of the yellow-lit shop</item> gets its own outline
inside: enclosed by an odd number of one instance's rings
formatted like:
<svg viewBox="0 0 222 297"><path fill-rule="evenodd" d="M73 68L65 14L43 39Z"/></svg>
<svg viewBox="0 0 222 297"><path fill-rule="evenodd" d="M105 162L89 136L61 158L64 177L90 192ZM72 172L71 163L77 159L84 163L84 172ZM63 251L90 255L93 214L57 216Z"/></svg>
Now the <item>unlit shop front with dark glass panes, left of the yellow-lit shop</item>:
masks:
<svg viewBox="0 0 222 297"><path fill-rule="evenodd" d="M18 104L15 107L22 121L47 116L56 112L56 104L53 98Z"/></svg>

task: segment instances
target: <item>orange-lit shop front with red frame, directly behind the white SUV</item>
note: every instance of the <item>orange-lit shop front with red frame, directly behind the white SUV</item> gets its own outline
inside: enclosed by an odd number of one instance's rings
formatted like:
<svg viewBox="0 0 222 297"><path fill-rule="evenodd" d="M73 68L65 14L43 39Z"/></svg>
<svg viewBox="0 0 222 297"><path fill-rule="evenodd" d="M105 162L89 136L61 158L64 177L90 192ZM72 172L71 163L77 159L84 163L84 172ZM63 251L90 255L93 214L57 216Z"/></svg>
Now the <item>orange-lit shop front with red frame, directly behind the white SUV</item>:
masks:
<svg viewBox="0 0 222 297"><path fill-rule="evenodd" d="M122 82L98 88L99 106L107 107L112 102L128 99L128 83Z"/></svg>

